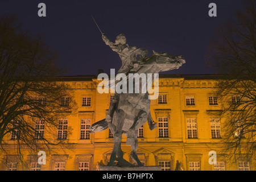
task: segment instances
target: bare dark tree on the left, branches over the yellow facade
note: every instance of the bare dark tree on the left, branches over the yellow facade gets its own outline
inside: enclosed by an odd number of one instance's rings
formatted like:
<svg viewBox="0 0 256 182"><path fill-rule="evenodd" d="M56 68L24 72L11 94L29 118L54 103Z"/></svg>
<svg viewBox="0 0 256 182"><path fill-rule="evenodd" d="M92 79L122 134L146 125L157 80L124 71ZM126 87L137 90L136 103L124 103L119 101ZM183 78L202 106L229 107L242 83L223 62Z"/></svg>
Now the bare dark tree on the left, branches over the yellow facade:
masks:
<svg viewBox="0 0 256 182"><path fill-rule="evenodd" d="M76 108L72 90L58 77L58 57L42 35L23 31L15 14L1 16L0 156L16 154L24 162L24 151L68 143L54 135L58 118Z"/></svg>

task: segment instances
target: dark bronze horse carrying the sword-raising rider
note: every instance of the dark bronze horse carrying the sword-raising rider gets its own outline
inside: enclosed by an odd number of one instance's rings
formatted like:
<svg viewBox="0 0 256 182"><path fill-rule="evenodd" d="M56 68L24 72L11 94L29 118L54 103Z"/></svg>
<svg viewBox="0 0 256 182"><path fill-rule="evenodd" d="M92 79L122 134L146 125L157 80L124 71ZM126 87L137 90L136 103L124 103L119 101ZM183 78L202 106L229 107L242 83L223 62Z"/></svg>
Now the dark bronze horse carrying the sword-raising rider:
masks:
<svg viewBox="0 0 256 182"><path fill-rule="evenodd" d="M131 69L129 73L159 73L169 71L171 69L179 69L185 63L183 56L173 56L167 53L154 52L154 55L146 57L143 63L138 68ZM133 81L133 80L128 80ZM135 84L133 84L135 85ZM123 159L123 152L121 150L122 134L127 137L126 144L131 146L131 158L137 166L143 166L137 156L138 148L138 129L148 121L151 129L157 127L156 123L152 124L152 117L150 113L149 94L146 93L120 93L117 104L115 105L112 122L107 123L105 119L94 123L89 133L100 132L110 128L114 135L114 147L108 166L114 166L114 161L118 161L118 166L134 166L125 159Z"/></svg>

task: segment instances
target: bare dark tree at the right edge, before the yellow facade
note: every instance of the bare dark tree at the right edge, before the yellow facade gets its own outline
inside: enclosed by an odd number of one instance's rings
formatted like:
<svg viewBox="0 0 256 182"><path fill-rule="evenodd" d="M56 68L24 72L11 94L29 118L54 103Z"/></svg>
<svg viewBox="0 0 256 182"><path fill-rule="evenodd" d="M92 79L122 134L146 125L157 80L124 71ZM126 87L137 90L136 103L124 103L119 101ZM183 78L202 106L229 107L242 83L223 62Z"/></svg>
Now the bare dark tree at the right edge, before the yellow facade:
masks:
<svg viewBox="0 0 256 182"><path fill-rule="evenodd" d="M256 151L255 18L255 1L245 1L245 9L217 30L207 52L209 65L221 75L214 94L225 118L221 152L230 161L250 160Z"/></svg>

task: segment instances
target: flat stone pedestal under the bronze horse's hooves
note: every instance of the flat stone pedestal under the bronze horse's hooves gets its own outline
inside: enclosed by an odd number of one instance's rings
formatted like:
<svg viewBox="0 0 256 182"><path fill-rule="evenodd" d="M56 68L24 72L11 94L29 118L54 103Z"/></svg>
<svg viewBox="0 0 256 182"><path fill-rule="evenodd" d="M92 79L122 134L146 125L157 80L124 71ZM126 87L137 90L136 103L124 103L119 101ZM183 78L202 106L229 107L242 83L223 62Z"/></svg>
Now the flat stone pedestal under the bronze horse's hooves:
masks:
<svg viewBox="0 0 256 182"><path fill-rule="evenodd" d="M142 167L117 167L100 166L100 171L161 171L160 166L142 166Z"/></svg>

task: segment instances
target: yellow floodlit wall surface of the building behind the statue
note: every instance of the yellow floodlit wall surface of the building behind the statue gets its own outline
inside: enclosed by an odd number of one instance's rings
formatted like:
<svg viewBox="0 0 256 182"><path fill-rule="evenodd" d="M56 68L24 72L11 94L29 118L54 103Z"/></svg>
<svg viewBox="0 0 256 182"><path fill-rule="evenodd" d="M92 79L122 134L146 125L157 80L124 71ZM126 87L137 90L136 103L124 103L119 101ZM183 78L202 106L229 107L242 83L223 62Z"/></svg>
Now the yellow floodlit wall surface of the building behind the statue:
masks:
<svg viewBox="0 0 256 182"><path fill-rule="evenodd" d="M42 170L54 170L55 163L65 164L65 170L78 170L79 163L89 164L87 169L94 170L97 162L108 162L113 148L113 138L109 138L109 129L100 133L90 134L89 139L80 139L81 119L90 119L90 125L105 118L108 112L110 95L97 92L97 77L67 77L67 84L75 89L75 100L79 106L76 115L67 115L68 126L72 127L72 134L68 135L72 148L65 152L55 148L56 153L46 155L46 164ZM159 137L159 128L150 130L147 123L143 126L143 138L138 138L138 157L146 166L166 165L164 169L174 170L176 160L182 163L184 170L200 169L213 171L209 164L209 151L221 149L221 139L212 138L210 118L211 114L220 110L218 105L209 105L210 92L214 89L214 76L180 76L163 75L159 78L159 94L166 95L166 104L158 104L158 100L151 100L151 115L155 122L159 118L168 119L168 137ZM186 104L186 96L195 98L195 105ZM82 97L90 97L90 106L82 106ZM196 118L196 138L188 138L187 121ZM192 120L193 120L192 119ZM224 122L220 120L221 125ZM57 131L56 131L57 132ZM15 140L6 138L6 142ZM124 158L131 162L130 146L126 146L126 137L122 139ZM216 144L217 143L217 144ZM5 158L6 156L2 156ZM15 157L15 156L14 156ZM30 163L30 155L27 155ZM238 162L228 164L224 155L218 154L217 162L225 164L225 170L239 170ZM170 165L170 166L169 166ZM199 166L198 166L199 165ZM249 161L249 169L255 170L255 160ZM2 170L6 166L0 165ZM18 165L18 170L21 167ZM27 168L30 169L30 166Z"/></svg>

